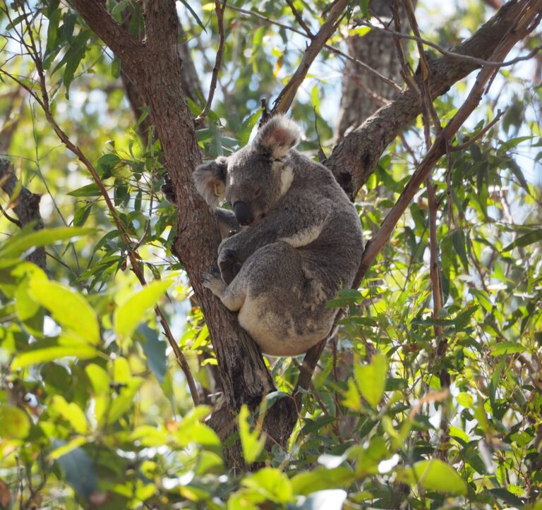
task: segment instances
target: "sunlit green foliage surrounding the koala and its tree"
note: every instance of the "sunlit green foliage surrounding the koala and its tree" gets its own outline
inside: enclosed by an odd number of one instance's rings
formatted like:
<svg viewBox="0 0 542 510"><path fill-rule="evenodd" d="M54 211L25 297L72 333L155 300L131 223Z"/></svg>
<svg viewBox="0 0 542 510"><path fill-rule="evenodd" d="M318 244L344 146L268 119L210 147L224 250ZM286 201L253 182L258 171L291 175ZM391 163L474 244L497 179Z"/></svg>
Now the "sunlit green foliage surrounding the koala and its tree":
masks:
<svg viewBox="0 0 542 510"><path fill-rule="evenodd" d="M140 2L107 4L141 34ZM197 115L215 63L215 4L177 4L179 44L189 48L198 77L188 100ZM327 2L293 4L318 30ZM0 193L0 205L13 217L20 186L41 195L45 230L38 238L31 226L20 231L0 215L0 507L542 508L539 59L498 73L456 141L474 136L499 109L502 120L434 171L440 317L432 316L423 188L361 289L332 303L347 303L349 314L320 359L289 449L266 454L261 416L241 413L246 461L260 463L243 474L224 467L219 439L203 421L219 395L216 362L190 283L171 255L175 210L159 192L164 166L147 112L134 116L119 61L69 1L30 1L26 18L22 5L4 2L0 13L0 155L19 183L11 196ZM332 46L348 51L349 20L366 8L351 2ZM480 0L416 7L423 37L442 47L469 37L491 14ZM18 44L30 37L21 34L25 19L41 44L52 116L95 165L140 246L147 281L165 282L150 291L129 270L126 245L88 171L25 90L37 87L36 64ZM236 0L226 8L219 86L198 129L207 157L248 141L261 98L271 104L301 60L306 38L268 20L299 29L283 2ZM291 109L306 133L300 149L315 159L333 147L343 68L344 59L324 49ZM435 101L443 123L472 79ZM424 150L417 119L359 193L366 238ZM38 244L47 274L24 262ZM155 303L205 406L193 407ZM278 389L291 391L301 358L268 362Z"/></svg>

